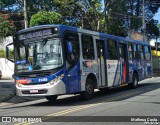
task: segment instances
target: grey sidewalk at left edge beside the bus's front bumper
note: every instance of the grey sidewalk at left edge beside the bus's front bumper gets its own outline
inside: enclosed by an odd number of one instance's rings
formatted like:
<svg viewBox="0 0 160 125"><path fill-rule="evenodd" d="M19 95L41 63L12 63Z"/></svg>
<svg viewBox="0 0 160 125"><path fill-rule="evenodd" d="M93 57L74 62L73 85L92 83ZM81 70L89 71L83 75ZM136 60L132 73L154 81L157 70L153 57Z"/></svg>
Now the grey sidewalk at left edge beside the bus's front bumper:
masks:
<svg viewBox="0 0 160 125"><path fill-rule="evenodd" d="M16 96L14 80L0 80L0 107L22 102L43 99L44 97L19 97Z"/></svg>

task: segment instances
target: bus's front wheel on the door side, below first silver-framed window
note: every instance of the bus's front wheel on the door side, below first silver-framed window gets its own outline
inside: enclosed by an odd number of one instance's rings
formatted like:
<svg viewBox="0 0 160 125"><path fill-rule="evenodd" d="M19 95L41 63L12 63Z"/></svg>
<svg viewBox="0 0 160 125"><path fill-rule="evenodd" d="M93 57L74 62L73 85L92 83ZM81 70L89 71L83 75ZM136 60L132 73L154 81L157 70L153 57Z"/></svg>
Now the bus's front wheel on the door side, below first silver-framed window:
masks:
<svg viewBox="0 0 160 125"><path fill-rule="evenodd" d="M85 91L81 95L85 100L90 100L94 97L94 84L91 79L87 79Z"/></svg>

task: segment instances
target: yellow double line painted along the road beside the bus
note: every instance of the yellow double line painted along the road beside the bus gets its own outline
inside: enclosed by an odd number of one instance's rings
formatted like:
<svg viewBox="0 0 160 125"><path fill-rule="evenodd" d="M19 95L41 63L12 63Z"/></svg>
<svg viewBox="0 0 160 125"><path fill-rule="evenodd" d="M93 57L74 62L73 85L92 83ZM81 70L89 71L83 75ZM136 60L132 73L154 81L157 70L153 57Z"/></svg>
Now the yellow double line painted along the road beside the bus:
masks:
<svg viewBox="0 0 160 125"><path fill-rule="evenodd" d="M66 115L66 114L69 114L69 113L72 113L72 112L75 112L75 111L83 110L83 109L86 109L86 108L91 108L91 107L94 107L94 106L97 106L97 105L100 105L100 104L104 104L104 102L116 101L116 100L122 99L124 97L129 97L129 96L132 96L132 95L135 95L135 94L140 94L141 92L142 91L132 92L132 93L128 93L128 94L125 94L125 95L118 96L118 97L108 98L108 99L99 101L99 102L97 102L95 104L82 105L82 106L79 106L79 107L74 107L74 108L71 108L71 109L66 109L66 110L63 110L63 111L59 111L59 112L56 112L56 113L53 113L53 114L49 114L49 115L46 115L46 116L42 117L42 121L43 120L47 120L47 119L51 119L51 118L56 117L56 116L62 116L62 115ZM34 123L35 122L18 123L18 124L15 124L15 125L21 125L21 124L23 124L23 125L31 125L31 124L34 124Z"/></svg>

